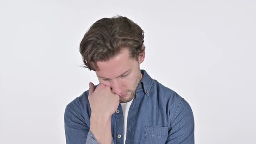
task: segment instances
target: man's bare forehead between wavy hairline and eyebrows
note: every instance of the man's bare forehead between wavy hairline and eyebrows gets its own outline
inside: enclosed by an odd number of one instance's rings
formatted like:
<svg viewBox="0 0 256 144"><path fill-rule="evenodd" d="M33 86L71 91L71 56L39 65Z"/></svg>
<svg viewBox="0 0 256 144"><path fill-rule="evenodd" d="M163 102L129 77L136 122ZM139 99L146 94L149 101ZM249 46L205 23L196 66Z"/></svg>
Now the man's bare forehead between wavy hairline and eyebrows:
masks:
<svg viewBox="0 0 256 144"><path fill-rule="evenodd" d="M112 79L131 69L134 62L129 56L129 50L121 49L118 55L108 61L96 62L98 69L95 72L97 76Z"/></svg>

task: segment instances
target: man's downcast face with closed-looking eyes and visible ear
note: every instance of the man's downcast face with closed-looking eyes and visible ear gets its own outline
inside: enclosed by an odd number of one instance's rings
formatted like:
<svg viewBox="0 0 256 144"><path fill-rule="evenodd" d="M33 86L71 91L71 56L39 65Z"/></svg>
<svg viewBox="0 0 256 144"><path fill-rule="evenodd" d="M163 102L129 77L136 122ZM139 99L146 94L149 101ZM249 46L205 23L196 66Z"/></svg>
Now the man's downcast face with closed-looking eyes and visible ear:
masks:
<svg viewBox="0 0 256 144"><path fill-rule="evenodd" d="M142 78L139 65L144 61L145 53L142 52L136 59L129 57L128 49L105 62L97 62L95 71L100 83L111 87L115 94L120 96L120 102L131 101Z"/></svg>

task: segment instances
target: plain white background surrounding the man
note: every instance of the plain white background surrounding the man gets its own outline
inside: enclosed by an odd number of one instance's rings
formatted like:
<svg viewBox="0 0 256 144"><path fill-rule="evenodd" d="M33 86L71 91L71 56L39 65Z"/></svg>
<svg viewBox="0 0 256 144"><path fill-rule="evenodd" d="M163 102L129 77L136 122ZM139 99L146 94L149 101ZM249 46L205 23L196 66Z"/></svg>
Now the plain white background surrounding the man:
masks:
<svg viewBox="0 0 256 144"><path fill-rule="evenodd" d="M189 102L196 144L256 144L255 0L0 0L0 144L66 142L66 105L98 82L79 43L117 14L145 32L141 69Z"/></svg>

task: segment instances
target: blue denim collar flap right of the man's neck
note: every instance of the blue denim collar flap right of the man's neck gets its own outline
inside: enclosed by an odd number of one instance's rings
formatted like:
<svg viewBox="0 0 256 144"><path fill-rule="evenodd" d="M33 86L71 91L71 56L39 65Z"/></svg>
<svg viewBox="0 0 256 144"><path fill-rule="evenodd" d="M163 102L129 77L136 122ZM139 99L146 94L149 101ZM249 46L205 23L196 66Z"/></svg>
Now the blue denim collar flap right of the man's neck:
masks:
<svg viewBox="0 0 256 144"><path fill-rule="evenodd" d="M146 94L146 95L149 95L149 92L150 92L150 89L151 89L151 86L153 84L153 79L148 75L148 73L141 69L141 74L143 75L142 76L142 79L141 81L139 82L138 84L138 88L137 88L137 91L140 90L140 89L143 89L143 92Z"/></svg>

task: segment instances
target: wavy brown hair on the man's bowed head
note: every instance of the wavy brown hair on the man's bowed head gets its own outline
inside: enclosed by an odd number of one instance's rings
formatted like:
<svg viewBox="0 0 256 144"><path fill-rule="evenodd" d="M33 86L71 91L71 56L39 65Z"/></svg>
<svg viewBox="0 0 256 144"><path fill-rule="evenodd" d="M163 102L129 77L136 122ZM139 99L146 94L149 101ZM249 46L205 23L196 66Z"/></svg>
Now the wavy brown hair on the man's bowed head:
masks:
<svg viewBox="0 0 256 144"><path fill-rule="evenodd" d="M145 49L143 43L144 31L127 17L100 19L92 24L80 43L83 67L95 71L96 62L107 61L122 48L128 48L130 58L138 60L138 55Z"/></svg>

